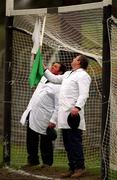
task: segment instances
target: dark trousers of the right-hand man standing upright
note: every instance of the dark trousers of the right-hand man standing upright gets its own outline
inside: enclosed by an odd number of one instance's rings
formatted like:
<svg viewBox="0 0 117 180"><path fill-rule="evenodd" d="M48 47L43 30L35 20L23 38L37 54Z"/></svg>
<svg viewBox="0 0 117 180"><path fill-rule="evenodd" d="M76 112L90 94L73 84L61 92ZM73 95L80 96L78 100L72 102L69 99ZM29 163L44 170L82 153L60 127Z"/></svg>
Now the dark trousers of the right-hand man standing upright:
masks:
<svg viewBox="0 0 117 180"><path fill-rule="evenodd" d="M82 130L63 129L63 143L67 152L71 170L84 169L84 154L82 147Z"/></svg>

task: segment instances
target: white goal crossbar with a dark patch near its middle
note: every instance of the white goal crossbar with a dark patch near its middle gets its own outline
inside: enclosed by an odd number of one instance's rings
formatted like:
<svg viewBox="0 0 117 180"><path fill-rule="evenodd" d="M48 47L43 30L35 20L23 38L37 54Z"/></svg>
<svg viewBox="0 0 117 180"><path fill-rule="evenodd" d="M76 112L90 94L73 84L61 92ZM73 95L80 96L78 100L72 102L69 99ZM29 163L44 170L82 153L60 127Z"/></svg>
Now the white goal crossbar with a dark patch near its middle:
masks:
<svg viewBox="0 0 117 180"><path fill-rule="evenodd" d="M51 12L51 13L55 12L55 9L57 9L56 13L57 12L65 13L65 12L88 10L88 9L92 10L92 9L96 9L96 8L102 8L102 7L108 6L110 4L112 4L112 0L103 0L102 2L63 6L63 7L56 7L56 8L51 7L51 8L15 10L14 9L14 0L6 0L6 16L47 14L48 12Z"/></svg>

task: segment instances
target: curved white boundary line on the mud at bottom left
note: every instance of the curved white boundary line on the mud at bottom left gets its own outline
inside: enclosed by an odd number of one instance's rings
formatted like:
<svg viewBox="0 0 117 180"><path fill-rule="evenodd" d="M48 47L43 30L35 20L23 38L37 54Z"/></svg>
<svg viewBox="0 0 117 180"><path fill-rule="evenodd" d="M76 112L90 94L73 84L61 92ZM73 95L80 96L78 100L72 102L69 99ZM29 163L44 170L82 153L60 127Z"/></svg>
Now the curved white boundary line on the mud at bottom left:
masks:
<svg viewBox="0 0 117 180"><path fill-rule="evenodd" d="M35 177L37 179L46 179L46 180L60 180L59 178L50 178L50 177L47 177L47 176L41 176L41 175L36 175L36 174L32 174L32 173L29 173L29 172L26 172L26 171L23 171L23 170L15 170L13 168L10 168L8 166L6 166L4 169L7 169L9 172L12 172L12 173L16 173L16 174L19 174L19 175L24 175L24 176L31 176L31 177Z"/></svg>

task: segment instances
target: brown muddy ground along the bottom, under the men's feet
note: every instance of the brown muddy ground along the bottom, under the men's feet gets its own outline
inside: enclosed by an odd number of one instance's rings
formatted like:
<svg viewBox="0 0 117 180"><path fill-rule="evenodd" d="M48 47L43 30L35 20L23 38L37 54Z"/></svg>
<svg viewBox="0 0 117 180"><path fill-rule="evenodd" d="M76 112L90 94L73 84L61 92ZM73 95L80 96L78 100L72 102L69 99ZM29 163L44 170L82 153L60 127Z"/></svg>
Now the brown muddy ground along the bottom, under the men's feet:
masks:
<svg viewBox="0 0 117 180"><path fill-rule="evenodd" d="M70 180L71 178L62 179L60 174L64 172L61 169L55 167L51 168L21 168L14 170L7 167L0 168L0 180ZM77 178L78 180L101 180L97 175L91 174L86 171L84 176Z"/></svg>

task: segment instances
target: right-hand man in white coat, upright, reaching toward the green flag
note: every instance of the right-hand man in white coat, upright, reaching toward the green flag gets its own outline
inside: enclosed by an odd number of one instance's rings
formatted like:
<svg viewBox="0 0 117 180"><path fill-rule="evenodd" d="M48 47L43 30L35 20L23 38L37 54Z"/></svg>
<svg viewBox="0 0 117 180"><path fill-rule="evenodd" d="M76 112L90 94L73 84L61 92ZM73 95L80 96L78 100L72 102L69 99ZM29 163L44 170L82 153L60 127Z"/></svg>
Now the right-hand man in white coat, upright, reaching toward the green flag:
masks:
<svg viewBox="0 0 117 180"><path fill-rule="evenodd" d="M82 132L86 129L84 106L89 97L91 83L91 78L86 72L88 67L87 57L78 55L73 59L71 67L72 71L67 71L58 76L54 76L45 68L45 77L49 81L62 83L59 94L58 128L62 129L63 143L69 161L69 171L61 175L63 178L78 178L85 172ZM68 125L69 113L72 117L80 115L78 128L72 129Z"/></svg>

